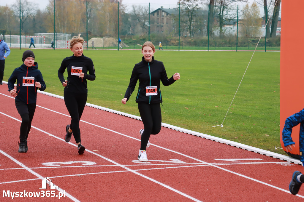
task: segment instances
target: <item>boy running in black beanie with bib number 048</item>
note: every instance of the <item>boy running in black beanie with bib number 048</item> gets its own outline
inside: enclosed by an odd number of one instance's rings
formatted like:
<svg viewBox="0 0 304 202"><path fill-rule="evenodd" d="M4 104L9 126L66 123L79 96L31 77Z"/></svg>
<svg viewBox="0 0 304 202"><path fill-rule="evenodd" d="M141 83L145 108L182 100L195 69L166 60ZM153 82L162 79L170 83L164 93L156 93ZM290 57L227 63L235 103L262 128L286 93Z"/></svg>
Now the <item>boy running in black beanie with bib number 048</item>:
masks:
<svg viewBox="0 0 304 202"><path fill-rule="evenodd" d="M28 150L27 137L36 109L37 90L38 88L40 91L45 90L46 85L40 70L38 70L38 64L35 62L33 51L24 51L22 54L22 62L24 63L16 68L9 77L7 85L11 96L16 97L15 105L21 116L18 152L26 153ZM16 80L17 87L14 89Z"/></svg>

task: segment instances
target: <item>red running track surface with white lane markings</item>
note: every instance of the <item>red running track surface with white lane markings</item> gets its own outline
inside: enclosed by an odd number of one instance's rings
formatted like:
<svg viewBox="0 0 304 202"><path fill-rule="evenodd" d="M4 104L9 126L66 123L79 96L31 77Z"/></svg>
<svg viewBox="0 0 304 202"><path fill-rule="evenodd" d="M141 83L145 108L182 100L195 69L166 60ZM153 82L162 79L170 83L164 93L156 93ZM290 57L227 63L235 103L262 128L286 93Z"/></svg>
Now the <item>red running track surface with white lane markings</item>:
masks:
<svg viewBox="0 0 304 202"><path fill-rule="evenodd" d="M301 165L165 127L151 136L149 161L142 163L142 122L87 106L80 122L86 150L78 155L75 140L64 141L70 122L64 100L40 93L29 150L18 153L21 118L6 84L0 95L0 201L11 201L14 192L17 201L54 201L63 193L60 201L304 200L303 188L296 196L288 190ZM46 177L60 192L44 189Z"/></svg>

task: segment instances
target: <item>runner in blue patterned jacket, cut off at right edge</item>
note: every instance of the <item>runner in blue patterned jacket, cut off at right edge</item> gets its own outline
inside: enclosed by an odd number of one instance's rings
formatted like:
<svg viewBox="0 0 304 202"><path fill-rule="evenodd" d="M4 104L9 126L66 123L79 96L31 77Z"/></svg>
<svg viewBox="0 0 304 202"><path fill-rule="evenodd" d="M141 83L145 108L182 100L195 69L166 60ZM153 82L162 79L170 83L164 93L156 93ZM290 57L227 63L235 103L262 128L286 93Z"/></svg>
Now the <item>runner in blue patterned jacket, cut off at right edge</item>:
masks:
<svg viewBox="0 0 304 202"><path fill-rule="evenodd" d="M294 126L300 124L300 133L299 133L299 149L300 149L300 161L304 162L304 109L300 112L289 116L286 121L282 131L282 140L286 151L292 151L292 147L295 147L295 142L292 140L291 132ZM304 175L300 171L295 171L292 174L292 180L289 183L290 193L296 195L299 192L299 189L304 182Z"/></svg>

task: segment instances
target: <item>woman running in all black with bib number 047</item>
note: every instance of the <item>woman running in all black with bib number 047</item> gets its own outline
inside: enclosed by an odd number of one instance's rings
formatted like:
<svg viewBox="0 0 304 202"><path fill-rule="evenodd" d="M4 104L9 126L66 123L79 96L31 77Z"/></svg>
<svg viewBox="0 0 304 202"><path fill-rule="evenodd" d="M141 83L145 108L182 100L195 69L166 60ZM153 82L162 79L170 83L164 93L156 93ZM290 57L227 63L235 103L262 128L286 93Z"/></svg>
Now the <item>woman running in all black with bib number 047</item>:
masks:
<svg viewBox="0 0 304 202"><path fill-rule="evenodd" d="M83 55L84 41L80 34L70 39L70 49L73 55L64 58L58 69L58 78L64 86L64 103L71 116L71 123L66 126L64 139L69 142L73 134L79 154L83 154L85 151L85 147L81 144L79 121L88 98L87 80L95 80L93 61ZM67 69L67 80L63 75L65 69ZM89 74L87 74L88 72Z"/></svg>

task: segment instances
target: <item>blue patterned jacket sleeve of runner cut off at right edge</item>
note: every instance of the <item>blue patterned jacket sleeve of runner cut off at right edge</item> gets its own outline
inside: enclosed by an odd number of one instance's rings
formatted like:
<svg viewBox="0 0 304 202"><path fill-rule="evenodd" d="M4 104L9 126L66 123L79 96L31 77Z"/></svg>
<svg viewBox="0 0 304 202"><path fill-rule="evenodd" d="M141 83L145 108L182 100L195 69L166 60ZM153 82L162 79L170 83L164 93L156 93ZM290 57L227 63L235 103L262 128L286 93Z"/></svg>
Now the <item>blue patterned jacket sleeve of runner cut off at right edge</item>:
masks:
<svg viewBox="0 0 304 202"><path fill-rule="evenodd" d="M288 146L291 144L295 144L295 142L292 141L291 138L291 132L292 132L292 128L296 125L298 125L299 123L302 123L304 121L304 109L302 109L300 112L293 114L292 116L289 116L286 120L285 120L285 125L282 131L282 140L284 143L284 146ZM301 124L302 126L303 124ZM302 131L302 127L300 127L300 140L303 138L303 133L304 131Z"/></svg>

